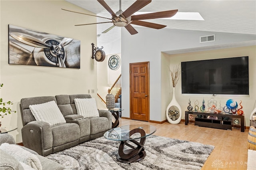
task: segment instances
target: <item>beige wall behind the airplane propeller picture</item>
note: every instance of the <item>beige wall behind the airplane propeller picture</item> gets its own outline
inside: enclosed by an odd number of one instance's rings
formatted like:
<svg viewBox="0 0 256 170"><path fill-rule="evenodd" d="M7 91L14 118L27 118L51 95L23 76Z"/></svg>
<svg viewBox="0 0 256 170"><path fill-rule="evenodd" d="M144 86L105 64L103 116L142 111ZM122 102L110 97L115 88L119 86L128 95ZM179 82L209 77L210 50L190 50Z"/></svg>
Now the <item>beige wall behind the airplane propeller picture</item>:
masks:
<svg viewBox="0 0 256 170"><path fill-rule="evenodd" d="M4 83L1 97L14 101L11 106L17 113L1 119L2 127L18 126L11 132L16 142L22 142L20 99L34 96L55 96L59 94L86 94L94 89L92 97L97 98L97 62L91 59L92 45L96 43L96 25L74 26L94 23L96 17L74 14L61 8L92 14L62 0L1 0L1 44L0 82ZM8 64L8 24L46 32L81 41L80 69Z"/></svg>

